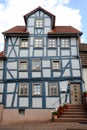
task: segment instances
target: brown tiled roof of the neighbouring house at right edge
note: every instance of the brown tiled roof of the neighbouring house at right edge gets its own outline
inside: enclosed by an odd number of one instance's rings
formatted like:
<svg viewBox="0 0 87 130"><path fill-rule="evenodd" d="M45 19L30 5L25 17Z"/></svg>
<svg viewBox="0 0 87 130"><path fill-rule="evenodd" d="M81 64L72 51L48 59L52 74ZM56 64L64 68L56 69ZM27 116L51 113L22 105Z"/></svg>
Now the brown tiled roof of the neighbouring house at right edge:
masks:
<svg viewBox="0 0 87 130"><path fill-rule="evenodd" d="M79 54L83 68L87 68L87 44L79 44Z"/></svg>

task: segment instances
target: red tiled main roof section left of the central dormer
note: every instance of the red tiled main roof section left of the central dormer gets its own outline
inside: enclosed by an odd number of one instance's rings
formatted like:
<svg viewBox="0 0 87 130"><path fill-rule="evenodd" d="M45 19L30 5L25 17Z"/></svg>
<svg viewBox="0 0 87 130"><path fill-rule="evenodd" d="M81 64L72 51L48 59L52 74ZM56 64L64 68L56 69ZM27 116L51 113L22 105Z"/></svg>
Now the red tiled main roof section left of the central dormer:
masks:
<svg viewBox="0 0 87 130"><path fill-rule="evenodd" d="M26 32L26 27L25 26L15 26L5 32L3 32L5 35L29 35L29 32Z"/></svg>

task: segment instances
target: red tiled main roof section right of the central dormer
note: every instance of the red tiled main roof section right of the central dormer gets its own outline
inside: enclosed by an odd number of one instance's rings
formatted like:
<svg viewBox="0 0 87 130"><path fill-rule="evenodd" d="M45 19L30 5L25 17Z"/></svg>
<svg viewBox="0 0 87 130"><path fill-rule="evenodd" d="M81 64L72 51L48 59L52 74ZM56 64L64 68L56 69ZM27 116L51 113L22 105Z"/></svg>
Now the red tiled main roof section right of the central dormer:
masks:
<svg viewBox="0 0 87 130"><path fill-rule="evenodd" d="M50 32L48 32L48 35L52 34L79 34L82 35L82 32L77 30L76 28L72 26L55 26L54 29L52 29Z"/></svg>

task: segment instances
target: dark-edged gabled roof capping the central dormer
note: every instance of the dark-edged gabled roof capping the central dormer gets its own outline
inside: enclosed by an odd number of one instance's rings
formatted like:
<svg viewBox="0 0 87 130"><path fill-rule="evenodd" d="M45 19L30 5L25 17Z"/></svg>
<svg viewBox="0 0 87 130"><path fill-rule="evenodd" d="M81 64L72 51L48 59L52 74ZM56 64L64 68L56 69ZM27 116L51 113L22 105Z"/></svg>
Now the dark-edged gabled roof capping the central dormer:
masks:
<svg viewBox="0 0 87 130"><path fill-rule="evenodd" d="M49 15L51 18L52 18L52 28L54 28L55 26L55 15L51 14L50 12L48 12L47 10L43 9L42 7L37 7L36 9L34 9L33 11L27 13L24 15L24 20L25 20L25 23L27 24L27 19L30 15L34 14L35 12L37 11L42 11L44 13L46 13L47 15Z"/></svg>

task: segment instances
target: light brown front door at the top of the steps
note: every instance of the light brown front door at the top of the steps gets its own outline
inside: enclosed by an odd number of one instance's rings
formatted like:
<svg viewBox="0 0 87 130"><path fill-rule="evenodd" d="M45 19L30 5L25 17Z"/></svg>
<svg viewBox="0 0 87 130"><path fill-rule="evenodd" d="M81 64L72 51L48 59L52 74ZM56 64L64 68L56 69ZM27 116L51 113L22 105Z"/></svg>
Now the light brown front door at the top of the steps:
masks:
<svg viewBox="0 0 87 130"><path fill-rule="evenodd" d="M80 84L70 84L71 104L82 104Z"/></svg>

